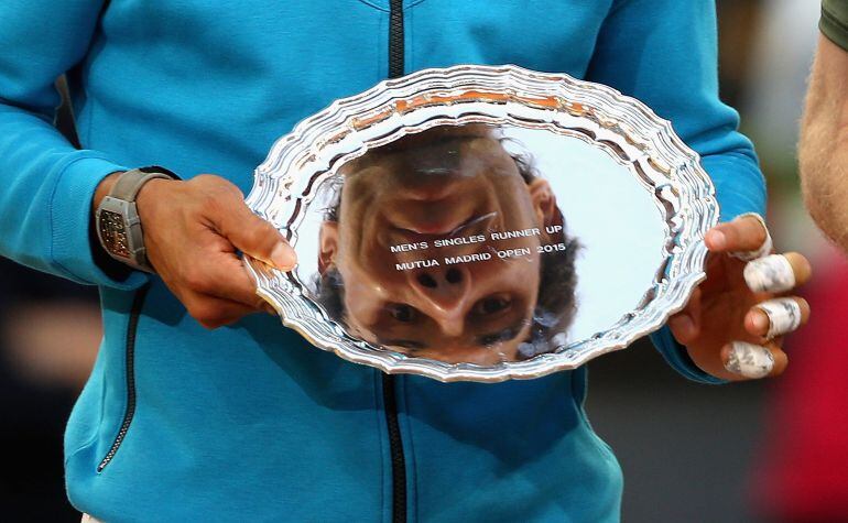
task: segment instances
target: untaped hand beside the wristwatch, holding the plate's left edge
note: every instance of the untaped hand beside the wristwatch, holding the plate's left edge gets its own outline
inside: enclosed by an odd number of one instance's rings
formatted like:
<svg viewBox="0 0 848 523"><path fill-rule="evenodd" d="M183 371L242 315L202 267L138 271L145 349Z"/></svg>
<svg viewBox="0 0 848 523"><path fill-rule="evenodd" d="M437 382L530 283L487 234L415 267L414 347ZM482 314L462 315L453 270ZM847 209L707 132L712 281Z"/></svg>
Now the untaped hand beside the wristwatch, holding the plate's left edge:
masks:
<svg viewBox="0 0 848 523"><path fill-rule="evenodd" d="M283 271L296 263L276 229L251 213L238 187L219 176L153 179L135 203L148 260L204 327L269 310L237 251Z"/></svg>

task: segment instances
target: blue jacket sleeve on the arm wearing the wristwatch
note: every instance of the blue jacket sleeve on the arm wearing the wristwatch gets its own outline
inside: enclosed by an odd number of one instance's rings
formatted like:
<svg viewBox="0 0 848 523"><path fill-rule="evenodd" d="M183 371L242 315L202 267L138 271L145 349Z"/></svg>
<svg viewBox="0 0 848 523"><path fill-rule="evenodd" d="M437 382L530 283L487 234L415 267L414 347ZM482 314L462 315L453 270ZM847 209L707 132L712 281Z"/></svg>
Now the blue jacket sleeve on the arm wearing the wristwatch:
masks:
<svg viewBox="0 0 848 523"><path fill-rule="evenodd" d="M0 2L0 255L79 283L132 288L146 276L109 277L89 240L95 188L126 167L74 149L51 124L54 81L85 57L101 4Z"/></svg>

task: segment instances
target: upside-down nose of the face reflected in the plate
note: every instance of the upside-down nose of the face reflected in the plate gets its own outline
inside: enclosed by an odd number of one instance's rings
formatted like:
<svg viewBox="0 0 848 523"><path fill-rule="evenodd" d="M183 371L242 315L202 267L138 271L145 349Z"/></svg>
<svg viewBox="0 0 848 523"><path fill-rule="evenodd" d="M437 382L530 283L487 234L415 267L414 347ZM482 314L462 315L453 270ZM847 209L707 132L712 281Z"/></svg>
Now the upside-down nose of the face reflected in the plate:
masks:
<svg viewBox="0 0 848 523"><path fill-rule="evenodd" d="M445 334L461 334L463 314L471 291L471 274L463 265L434 266L410 274L410 285L424 302L427 314Z"/></svg>

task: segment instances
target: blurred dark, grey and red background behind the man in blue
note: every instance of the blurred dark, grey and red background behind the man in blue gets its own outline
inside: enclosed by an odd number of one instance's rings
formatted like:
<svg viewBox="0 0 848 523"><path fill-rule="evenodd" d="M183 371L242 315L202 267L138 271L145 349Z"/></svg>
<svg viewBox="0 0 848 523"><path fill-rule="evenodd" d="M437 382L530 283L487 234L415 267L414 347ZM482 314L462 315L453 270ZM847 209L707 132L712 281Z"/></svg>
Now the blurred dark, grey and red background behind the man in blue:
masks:
<svg viewBox="0 0 848 523"><path fill-rule="evenodd" d="M819 1L719 0L718 11L721 96L760 153L778 249L813 262L803 294L815 314L789 339L779 380L691 383L642 341L589 364L587 410L624 470L626 522L848 521L848 335L828 330L848 310L848 262L806 216L795 159ZM95 290L0 259L7 521L79 521L62 433L99 344L97 307Z"/></svg>

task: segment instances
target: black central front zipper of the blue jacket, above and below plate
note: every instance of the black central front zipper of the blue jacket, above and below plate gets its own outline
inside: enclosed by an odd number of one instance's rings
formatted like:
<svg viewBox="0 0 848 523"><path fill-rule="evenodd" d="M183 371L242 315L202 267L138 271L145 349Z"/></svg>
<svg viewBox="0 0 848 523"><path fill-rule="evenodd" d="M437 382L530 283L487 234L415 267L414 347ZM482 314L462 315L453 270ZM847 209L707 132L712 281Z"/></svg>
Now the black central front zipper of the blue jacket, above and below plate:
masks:
<svg viewBox="0 0 848 523"><path fill-rule="evenodd" d="M389 2L389 77L403 76L403 0ZM383 374L383 410L389 432L389 451L392 458L392 522L406 521L406 460L403 456L403 440L398 424L398 399L394 377Z"/></svg>

